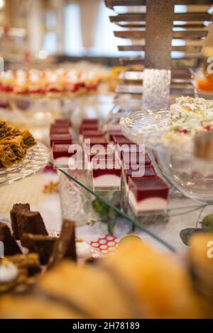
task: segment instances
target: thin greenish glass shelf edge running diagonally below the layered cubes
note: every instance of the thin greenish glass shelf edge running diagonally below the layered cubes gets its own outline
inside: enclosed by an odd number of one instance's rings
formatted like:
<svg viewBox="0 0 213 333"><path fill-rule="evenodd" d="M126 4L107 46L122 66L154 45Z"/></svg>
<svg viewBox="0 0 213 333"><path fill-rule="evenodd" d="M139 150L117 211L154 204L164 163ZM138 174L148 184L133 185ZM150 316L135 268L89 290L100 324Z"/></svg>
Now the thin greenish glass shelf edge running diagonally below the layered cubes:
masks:
<svg viewBox="0 0 213 333"><path fill-rule="evenodd" d="M62 169L57 169L57 170L60 171L60 172L62 172L62 174L65 174L65 176L67 176L72 181L75 181L76 184L80 185L82 188L84 188L84 190L86 190L87 192L91 193L92 196L94 196L95 198L99 199L99 201L102 201L102 203L105 203L106 205L108 205L112 210L114 210L122 218L125 218L126 220L128 220L129 222L131 222L132 225L138 227L138 229L143 230L143 232L146 232L147 235L153 237L153 239L155 239L157 242L160 242L165 247L167 247L168 249L170 249L171 252L176 252L175 248L172 245L168 244L168 242L165 242L165 240L163 240L160 237L158 237L157 235L153 234L153 232L149 231L148 229L146 229L145 227L143 227L142 225L140 225L137 221L129 218L129 216L126 215L126 214L124 214L123 212L121 212L121 210L119 210L119 208L116 208L109 201L107 201L106 199L102 198L97 193L94 193L90 188L87 188L87 186L85 186L84 184L82 184L80 181L77 181L77 179L75 179L74 177L72 177L70 174L67 174Z"/></svg>

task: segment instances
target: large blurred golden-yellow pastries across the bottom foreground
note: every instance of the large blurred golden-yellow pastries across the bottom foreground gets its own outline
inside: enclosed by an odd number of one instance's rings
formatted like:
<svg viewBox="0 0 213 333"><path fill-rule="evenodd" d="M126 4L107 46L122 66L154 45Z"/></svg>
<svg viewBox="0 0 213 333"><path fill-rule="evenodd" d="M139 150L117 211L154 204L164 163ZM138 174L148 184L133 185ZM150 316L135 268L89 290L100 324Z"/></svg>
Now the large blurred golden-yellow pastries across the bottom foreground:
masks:
<svg viewBox="0 0 213 333"><path fill-rule="evenodd" d="M192 239L189 262L197 258L197 242L201 236L196 237ZM200 244L203 251L204 242ZM204 258L202 252L197 270ZM211 271L212 261L207 265ZM190 271L173 256L158 252L138 237L123 240L114 256L94 261L92 265L77 266L74 261L61 261L36 278L35 286L23 295L2 297L0 317L212 317L212 301L197 293Z"/></svg>

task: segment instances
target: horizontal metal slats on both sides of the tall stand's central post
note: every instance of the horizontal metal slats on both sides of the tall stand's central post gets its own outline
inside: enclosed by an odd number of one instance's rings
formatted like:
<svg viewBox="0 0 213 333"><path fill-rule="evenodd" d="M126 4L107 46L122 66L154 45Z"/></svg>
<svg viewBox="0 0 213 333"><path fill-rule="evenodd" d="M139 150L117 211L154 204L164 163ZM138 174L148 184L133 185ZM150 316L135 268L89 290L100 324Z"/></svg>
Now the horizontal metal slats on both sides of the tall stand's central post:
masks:
<svg viewBox="0 0 213 333"><path fill-rule="evenodd" d="M126 105L132 110L141 109L146 86L144 67L171 69L171 103L177 96L195 96L193 69L200 62L207 25L212 21L212 14L208 12L212 1L106 0L105 3L116 13L109 17L111 23L119 27L114 31L115 37L129 40L129 45L118 45L119 50L138 52L138 57L121 58L121 63L129 69L121 74L116 105L121 109ZM185 5L186 12L174 13L175 5ZM121 13L124 6L125 13Z"/></svg>

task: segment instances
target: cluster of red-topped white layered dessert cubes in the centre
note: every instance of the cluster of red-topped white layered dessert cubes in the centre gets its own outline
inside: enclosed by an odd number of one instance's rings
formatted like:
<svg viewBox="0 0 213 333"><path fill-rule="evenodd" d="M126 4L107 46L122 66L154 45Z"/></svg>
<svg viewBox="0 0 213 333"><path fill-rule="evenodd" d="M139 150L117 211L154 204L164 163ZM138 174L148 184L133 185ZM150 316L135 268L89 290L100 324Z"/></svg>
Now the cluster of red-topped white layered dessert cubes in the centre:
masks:
<svg viewBox="0 0 213 333"><path fill-rule="evenodd" d="M86 130L84 127L86 127ZM77 147L82 148L84 154L84 158L81 157L80 161L83 162L84 160L84 164L81 164L81 166L80 164L77 165L76 161L72 163L72 156L73 159L77 158L77 154L75 154ZM106 132L97 119L84 118L79 125L79 137L75 144L69 145L66 140L60 144L54 142L52 152L56 167L68 169L66 171L68 174L116 207L121 207L125 213L134 214L136 220L142 221L143 218L146 218L146 222L152 222L160 218L160 222L162 217L164 217L163 220L167 219L168 186L157 176L151 158L143 145L133 144L121 133L121 130ZM131 180L143 181L143 179L145 181L149 179L144 191L144 196L147 196L147 198L144 198L146 204L143 209L139 209L138 205L141 207L141 203L137 199L137 191L135 198L132 194L133 189L131 188L131 193L129 191L129 184ZM70 193L72 193L73 182L67 179L67 186L68 184ZM64 188L65 184L62 185L61 183L61 192L62 187ZM138 189L138 193L141 193L140 189ZM162 199L163 204L160 204L161 194L164 198L164 200ZM70 201L72 200L73 198L70 198ZM62 205L63 201L64 199ZM155 201L159 201L158 205L155 204Z"/></svg>

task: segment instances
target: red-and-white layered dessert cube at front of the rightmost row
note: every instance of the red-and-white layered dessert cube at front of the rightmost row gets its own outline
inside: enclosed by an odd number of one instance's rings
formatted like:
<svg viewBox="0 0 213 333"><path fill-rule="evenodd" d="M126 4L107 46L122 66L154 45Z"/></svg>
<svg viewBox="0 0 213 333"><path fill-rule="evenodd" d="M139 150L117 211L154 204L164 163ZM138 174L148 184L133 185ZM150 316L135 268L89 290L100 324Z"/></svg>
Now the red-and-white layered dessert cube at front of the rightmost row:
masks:
<svg viewBox="0 0 213 333"><path fill-rule="evenodd" d="M165 211L168 191L168 186L158 176L141 179L129 177L129 205L136 215L146 211Z"/></svg>

